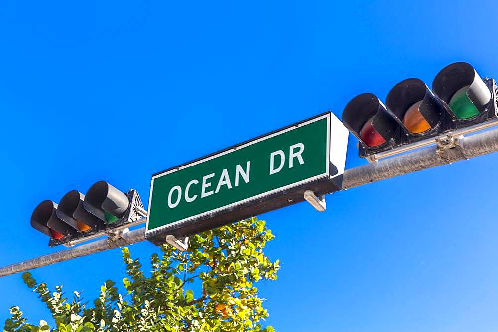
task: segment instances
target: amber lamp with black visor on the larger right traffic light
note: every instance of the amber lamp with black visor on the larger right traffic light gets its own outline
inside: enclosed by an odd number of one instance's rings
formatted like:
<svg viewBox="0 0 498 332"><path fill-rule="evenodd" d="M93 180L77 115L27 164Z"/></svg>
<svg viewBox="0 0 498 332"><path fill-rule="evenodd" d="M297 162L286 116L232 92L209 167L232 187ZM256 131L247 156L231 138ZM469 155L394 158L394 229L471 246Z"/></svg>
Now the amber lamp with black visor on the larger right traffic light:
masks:
<svg viewBox="0 0 498 332"><path fill-rule="evenodd" d="M396 84L385 100L387 109L408 133L421 134L442 120L444 107L419 79Z"/></svg>

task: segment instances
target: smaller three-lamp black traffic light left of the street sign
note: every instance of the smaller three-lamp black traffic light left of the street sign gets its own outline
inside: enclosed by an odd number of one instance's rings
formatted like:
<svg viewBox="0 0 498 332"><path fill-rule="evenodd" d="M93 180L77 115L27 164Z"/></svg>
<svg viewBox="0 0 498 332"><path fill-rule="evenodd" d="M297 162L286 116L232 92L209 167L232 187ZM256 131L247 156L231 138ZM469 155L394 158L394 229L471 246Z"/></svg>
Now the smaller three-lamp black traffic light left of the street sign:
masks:
<svg viewBox="0 0 498 332"><path fill-rule="evenodd" d="M123 193L99 181L86 195L72 190L59 204L51 200L41 202L33 211L31 226L50 237L49 246L53 247L126 228L142 218L137 209L143 210L143 204L136 190Z"/></svg>

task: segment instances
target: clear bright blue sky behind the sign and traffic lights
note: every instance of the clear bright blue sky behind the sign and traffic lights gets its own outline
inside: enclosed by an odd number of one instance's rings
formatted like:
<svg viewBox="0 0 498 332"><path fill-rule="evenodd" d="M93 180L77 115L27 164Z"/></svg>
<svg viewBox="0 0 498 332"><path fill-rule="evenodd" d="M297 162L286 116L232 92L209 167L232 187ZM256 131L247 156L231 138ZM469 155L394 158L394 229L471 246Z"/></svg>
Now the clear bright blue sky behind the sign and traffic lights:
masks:
<svg viewBox="0 0 498 332"><path fill-rule="evenodd" d="M104 3L105 2L105 3ZM32 209L97 180L150 175L445 65L498 77L496 1L1 1L0 264L54 252ZM350 140L347 167L365 163ZM338 192L261 216L279 331L497 331L498 155ZM59 248L57 248L59 249ZM157 248L131 246L146 258ZM119 250L37 269L89 298L120 281ZM0 278L32 321L49 312Z"/></svg>

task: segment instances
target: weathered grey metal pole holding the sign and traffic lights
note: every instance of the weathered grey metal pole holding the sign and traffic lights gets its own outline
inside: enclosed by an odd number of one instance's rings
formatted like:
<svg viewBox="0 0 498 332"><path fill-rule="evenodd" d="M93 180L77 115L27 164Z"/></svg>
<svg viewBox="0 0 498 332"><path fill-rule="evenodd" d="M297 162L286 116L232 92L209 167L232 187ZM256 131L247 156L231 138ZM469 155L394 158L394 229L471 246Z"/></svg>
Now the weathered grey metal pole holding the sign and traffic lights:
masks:
<svg viewBox="0 0 498 332"><path fill-rule="evenodd" d="M347 169L343 177L343 189L380 181L418 170L441 166L498 151L498 128L464 137L458 147L436 153L436 147L425 147L378 162ZM92 253L123 247L145 240L144 228L125 233L116 240L104 239L86 243L71 249L51 253L0 268L0 277L54 264Z"/></svg>

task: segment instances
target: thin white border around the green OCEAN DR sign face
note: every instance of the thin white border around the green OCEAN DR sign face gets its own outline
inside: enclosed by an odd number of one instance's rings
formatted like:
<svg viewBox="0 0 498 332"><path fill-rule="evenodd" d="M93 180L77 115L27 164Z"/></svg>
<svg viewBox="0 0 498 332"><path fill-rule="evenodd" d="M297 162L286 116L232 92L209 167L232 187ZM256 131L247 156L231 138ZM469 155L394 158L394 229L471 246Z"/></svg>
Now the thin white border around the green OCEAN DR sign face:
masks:
<svg viewBox="0 0 498 332"><path fill-rule="evenodd" d="M279 130L277 132L274 132L270 135L267 135L267 136L264 136L264 137L261 137L261 138L258 138L254 141L250 141L246 144L243 144L241 146L237 146L237 147L234 147L233 149L230 149L230 150L226 150L226 151L223 151L223 152L220 152L216 155L213 155L213 156L210 156L210 157L206 157L206 158L203 158L203 159L200 159L196 162L193 162L193 163L190 163L190 164L187 164L187 165L184 165L184 166L181 166L181 167L177 167L177 168L173 168L169 171L166 171L164 173L161 173L161 174L157 174L155 176L152 176L152 180L151 180L151 183L150 183L150 194L149 194L149 209L148 209L148 212L147 212L147 222L145 224L145 234L148 234L148 233L152 233L152 232L156 232L156 231L159 231L163 228L166 228L166 227L170 227L170 226L173 226L173 225L176 225L176 224L179 224L179 223L182 223L182 222L185 222L185 221L188 221L188 220L191 220L191 219L196 219L196 218L200 218L200 217L203 217L203 216L206 216L206 215L209 215L211 213L215 213L215 212L219 212L219 211L222 211L222 210L225 210L225 209L228 209L228 208L231 208L233 206L236 206L236 205L240 205L240 204L244 204L246 202L249 202L251 200L255 200L255 199L258 199L260 197L263 197L263 196L267 196L267 195L271 195L275 192L278 192L278 191L283 191L283 190L286 190L286 189L289 189L289 188L293 188L293 187L296 187L296 186L299 186L301 184L304 184L306 182L312 182L314 180L318 180L322 177L325 177L325 176L329 176L329 161L330 161L330 116L331 116L331 112L328 112L327 114L324 114L322 116L319 116L317 118L314 118L314 119L311 119L309 121L306 121L306 122L303 122L303 123L300 123L300 124L297 124L295 126L292 126L290 128L286 128L286 129L282 129L282 130ZM326 163L326 166L325 166L325 173L322 173L322 174L319 174L319 175L315 175L313 177L310 177L310 178L307 178L307 179L304 179L304 180L301 180L299 182L294 182L292 184L288 184L286 186L283 186L283 187L279 187L279 188L276 188L276 189L273 189L273 190L270 190L270 191L266 191L266 192L263 192L263 193L260 193L260 194L257 194L255 196L251 196L249 198L246 198L246 199L243 199L241 201L237 201L237 202L234 202L234 203L231 203L231 204L228 204L228 205L225 205L225 206L222 206L222 207L219 207L219 208L216 208L216 209L213 209L213 210L209 210L209 211L206 211L206 212L202 212L202 213L199 213L199 214L196 214L194 216L190 216L190 217L186 217L186 218L183 218L181 220L177 220L175 222L172 222L172 223L169 223L169 224L166 224L166 225L163 225L163 226L159 226L159 227L156 227L154 229L151 229L149 230L149 216L150 216L150 211L152 210L152 190L154 188L154 179L158 178L158 177L161 177L161 176L164 176L164 175L168 175L168 174L171 174L171 173L174 173L176 171L179 171L179 170L182 170L182 169L185 169L185 168L188 168L188 167L191 167L191 166L194 166L194 165L197 165L197 164L201 164L203 162L206 162L208 160L211 160L211 159L214 159L214 158L217 158L217 157L220 157L220 156L223 156L223 155L226 155L226 154L229 154L229 153L232 153L234 151L237 151L237 150L240 150L242 148L245 148L249 145L252 145L252 144L256 144L258 142L261 142L261 141L264 141L264 140L267 140L269 138L272 138L274 136L277 136L277 135L280 135L280 134L283 134L283 133L286 133L286 132L289 132L291 130L295 130L299 127L302 127L302 126L305 126L307 124L310 124L310 123L313 123L313 122L316 122L316 121L320 121L322 119L327 119L327 148L326 148L326 159L325 159L325 163Z"/></svg>

